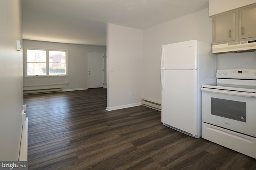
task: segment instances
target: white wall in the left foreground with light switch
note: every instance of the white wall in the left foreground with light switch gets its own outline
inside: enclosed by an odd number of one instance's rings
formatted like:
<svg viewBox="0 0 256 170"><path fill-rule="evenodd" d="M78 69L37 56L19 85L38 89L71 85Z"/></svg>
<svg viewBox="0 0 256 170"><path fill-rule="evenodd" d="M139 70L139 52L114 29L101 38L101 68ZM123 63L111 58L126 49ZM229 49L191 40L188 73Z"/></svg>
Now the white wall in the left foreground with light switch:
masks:
<svg viewBox="0 0 256 170"><path fill-rule="evenodd" d="M22 11L20 0L0 1L0 160L18 160L22 131Z"/></svg>

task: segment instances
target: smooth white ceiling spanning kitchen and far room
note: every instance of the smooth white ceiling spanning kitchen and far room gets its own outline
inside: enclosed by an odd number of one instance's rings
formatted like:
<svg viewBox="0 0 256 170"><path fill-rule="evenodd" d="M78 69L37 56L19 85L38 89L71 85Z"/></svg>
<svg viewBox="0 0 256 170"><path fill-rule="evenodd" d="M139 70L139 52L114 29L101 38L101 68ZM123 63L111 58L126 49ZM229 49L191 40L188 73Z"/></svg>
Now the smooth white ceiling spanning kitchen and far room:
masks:
<svg viewBox="0 0 256 170"><path fill-rule="evenodd" d="M22 0L23 39L106 46L106 24L146 29L208 0Z"/></svg>

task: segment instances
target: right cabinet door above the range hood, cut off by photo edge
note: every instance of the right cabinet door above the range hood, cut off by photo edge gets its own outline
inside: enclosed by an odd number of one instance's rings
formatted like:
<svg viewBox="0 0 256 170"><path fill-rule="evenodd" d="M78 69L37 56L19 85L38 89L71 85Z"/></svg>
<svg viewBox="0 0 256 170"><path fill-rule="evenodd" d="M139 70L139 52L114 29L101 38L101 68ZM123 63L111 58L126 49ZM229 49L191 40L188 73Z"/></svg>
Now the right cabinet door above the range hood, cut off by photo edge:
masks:
<svg viewBox="0 0 256 170"><path fill-rule="evenodd" d="M256 37L256 6L239 10L239 38Z"/></svg>

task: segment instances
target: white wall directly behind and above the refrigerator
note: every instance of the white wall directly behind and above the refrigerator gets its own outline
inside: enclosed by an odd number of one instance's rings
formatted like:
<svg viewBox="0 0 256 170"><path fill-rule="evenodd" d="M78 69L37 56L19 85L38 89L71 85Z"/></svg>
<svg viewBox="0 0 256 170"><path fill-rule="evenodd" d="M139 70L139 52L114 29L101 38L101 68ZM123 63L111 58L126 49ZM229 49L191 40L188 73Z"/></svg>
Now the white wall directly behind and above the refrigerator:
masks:
<svg viewBox="0 0 256 170"><path fill-rule="evenodd" d="M161 102L161 46L191 39L212 42L208 8L143 30L143 98Z"/></svg>

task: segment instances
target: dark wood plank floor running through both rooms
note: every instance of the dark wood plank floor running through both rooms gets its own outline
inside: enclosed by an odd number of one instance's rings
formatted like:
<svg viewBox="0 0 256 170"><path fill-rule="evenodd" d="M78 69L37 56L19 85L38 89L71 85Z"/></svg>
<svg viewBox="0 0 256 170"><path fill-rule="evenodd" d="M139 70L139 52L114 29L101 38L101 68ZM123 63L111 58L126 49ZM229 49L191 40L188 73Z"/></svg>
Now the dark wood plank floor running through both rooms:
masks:
<svg viewBox="0 0 256 170"><path fill-rule="evenodd" d="M255 170L256 159L165 127L144 106L106 111L106 89L25 95L28 169Z"/></svg>

